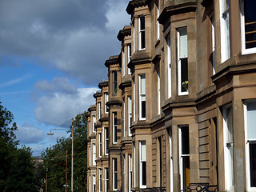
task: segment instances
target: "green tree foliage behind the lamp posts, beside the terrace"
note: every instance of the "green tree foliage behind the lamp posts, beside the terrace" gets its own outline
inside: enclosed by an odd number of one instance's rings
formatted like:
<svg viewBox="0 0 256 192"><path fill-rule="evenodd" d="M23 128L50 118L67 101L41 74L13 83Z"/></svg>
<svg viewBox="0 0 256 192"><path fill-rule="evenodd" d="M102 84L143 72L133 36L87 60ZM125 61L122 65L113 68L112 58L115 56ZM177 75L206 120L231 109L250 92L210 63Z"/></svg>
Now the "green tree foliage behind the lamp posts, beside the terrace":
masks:
<svg viewBox="0 0 256 192"><path fill-rule="evenodd" d="M86 111L74 118L74 191L86 191L87 170L87 118ZM45 166L48 168L47 188L49 191L65 191L66 183L66 150L67 156L67 184L71 186L71 128L69 138L59 138L57 144L46 149L43 154Z"/></svg>

